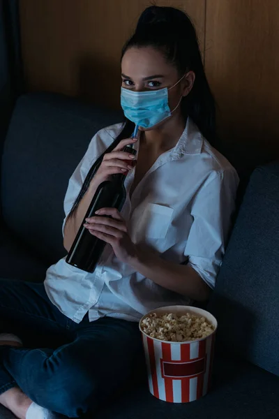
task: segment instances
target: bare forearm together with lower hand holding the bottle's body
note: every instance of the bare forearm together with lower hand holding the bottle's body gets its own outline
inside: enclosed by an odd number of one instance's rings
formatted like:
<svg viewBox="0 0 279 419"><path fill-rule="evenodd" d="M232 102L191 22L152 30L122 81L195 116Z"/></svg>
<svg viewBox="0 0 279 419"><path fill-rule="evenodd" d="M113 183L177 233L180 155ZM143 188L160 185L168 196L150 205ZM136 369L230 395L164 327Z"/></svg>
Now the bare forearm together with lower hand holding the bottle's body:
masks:
<svg viewBox="0 0 279 419"><path fill-rule="evenodd" d="M211 293L209 286L189 265L179 265L161 258L150 249L140 249L130 236L126 223L115 208L103 208L98 216L86 219L84 227L100 240L110 244L116 257L151 279L163 288L186 295L197 301L206 301ZM111 216L112 218L107 218Z"/></svg>

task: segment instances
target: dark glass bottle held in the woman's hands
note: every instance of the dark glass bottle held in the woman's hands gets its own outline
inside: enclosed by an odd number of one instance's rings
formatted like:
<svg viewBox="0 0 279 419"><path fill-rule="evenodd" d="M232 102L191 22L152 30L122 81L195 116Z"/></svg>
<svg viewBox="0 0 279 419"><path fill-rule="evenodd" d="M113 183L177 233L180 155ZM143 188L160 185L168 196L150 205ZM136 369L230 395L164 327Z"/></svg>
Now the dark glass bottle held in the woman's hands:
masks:
<svg viewBox="0 0 279 419"><path fill-rule="evenodd" d="M135 149L128 146L124 147L123 152L136 154ZM109 207L121 211L126 200L125 178L126 173L112 175L110 180L106 180L98 186L66 258L66 262L70 265L86 272L95 270L105 249L105 242L91 235L83 225L86 218L98 216L96 211L100 208Z"/></svg>

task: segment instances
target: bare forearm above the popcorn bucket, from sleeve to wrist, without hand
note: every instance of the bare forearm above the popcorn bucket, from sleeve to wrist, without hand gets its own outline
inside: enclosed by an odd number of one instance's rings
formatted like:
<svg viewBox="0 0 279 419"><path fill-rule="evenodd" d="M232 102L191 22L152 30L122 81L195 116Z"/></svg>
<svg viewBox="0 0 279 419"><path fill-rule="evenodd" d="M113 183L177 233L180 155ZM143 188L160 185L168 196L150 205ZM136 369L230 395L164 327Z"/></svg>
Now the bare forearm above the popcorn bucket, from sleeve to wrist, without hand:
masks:
<svg viewBox="0 0 279 419"><path fill-rule="evenodd" d="M142 250L137 251L137 254L130 259L129 265L144 277L170 291L200 302L209 298L211 288L188 265L168 262L158 254Z"/></svg>

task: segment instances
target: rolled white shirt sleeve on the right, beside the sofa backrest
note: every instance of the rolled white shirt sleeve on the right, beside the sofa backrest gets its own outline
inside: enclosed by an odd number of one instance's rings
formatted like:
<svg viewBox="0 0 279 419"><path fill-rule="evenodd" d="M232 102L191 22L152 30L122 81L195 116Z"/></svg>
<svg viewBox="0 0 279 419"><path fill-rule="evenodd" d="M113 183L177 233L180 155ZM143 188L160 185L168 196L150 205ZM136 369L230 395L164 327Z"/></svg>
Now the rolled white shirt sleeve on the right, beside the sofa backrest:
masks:
<svg viewBox="0 0 279 419"><path fill-rule="evenodd" d="M194 199L185 256L211 288L225 253L225 245L235 210L239 177L233 169L212 172Z"/></svg>

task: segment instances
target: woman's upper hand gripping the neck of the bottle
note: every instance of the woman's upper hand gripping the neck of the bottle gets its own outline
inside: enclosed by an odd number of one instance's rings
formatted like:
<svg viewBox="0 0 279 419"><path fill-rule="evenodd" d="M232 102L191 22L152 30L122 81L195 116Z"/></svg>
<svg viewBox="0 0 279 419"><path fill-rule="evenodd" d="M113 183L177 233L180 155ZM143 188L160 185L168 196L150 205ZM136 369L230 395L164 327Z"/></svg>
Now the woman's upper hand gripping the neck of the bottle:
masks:
<svg viewBox="0 0 279 419"><path fill-rule="evenodd" d="M117 173L123 173L133 169L133 166L135 166L135 156L133 156L133 154L122 152L121 150L126 145L135 144L135 142L137 142L136 138L121 140L119 145L117 145L111 153L105 154L95 177L93 177L93 183L100 184L101 182L107 180L111 175L116 175Z"/></svg>

